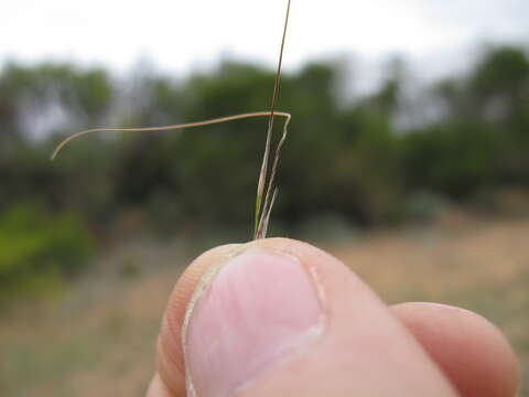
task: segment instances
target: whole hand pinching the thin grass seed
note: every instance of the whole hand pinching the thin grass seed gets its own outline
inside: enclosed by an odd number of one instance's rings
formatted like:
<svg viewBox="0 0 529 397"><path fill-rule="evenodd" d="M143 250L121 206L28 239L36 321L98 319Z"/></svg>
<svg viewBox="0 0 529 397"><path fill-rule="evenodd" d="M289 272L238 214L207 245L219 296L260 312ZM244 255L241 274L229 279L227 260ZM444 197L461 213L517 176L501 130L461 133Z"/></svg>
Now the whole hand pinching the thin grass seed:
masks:
<svg viewBox="0 0 529 397"><path fill-rule="evenodd" d="M328 254L273 238L217 247L186 269L148 397L185 396L184 374L197 397L512 397L518 372L484 318L387 307Z"/></svg>

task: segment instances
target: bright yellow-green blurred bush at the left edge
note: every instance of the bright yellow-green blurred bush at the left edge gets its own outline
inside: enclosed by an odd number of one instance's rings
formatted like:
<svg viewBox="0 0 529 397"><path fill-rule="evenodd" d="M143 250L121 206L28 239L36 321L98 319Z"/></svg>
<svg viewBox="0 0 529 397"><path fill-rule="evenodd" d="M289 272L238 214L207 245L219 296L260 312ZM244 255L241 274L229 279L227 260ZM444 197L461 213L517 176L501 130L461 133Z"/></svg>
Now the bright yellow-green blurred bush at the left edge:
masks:
<svg viewBox="0 0 529 397"><path fill-rule="evenodd" d="M93 253L78 216L52 216L34 204L13 206L0 214L0 300L61 287Z"/></svg>

